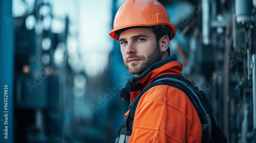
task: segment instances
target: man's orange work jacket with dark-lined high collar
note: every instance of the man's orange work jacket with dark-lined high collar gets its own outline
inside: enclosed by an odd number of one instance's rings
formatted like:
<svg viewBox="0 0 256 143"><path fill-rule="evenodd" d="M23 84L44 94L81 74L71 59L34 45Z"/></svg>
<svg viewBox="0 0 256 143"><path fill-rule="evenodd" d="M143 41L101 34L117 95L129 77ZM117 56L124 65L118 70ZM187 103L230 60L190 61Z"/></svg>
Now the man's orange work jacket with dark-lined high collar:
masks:
<svg viewBox="0 0 256 143"><path fill-rule="evenodd" d="M131 91L131 102L154 78L182 76L182 64L176 60L176 56L166 58L153 64L140 77L130 79L125 87ZM201 139L200 119L184 92L172 86L158 85L143 94L135 111L130 143L201 142Z"/></svg>

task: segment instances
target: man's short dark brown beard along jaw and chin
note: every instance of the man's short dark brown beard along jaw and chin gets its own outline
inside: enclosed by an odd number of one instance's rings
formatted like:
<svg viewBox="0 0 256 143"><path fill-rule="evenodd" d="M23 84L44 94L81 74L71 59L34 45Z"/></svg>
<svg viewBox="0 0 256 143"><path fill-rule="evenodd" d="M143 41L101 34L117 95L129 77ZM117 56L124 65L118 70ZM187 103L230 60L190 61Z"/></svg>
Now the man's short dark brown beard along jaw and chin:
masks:
<svg viewBox="0 0 256 143"><path fill-rule="evenodd" d="M130 67L128 66L128 60L130 58L136 58L136 59L141 59L142 64L140 67L135 67L138 63L132 63L130 64ZM138 56L138 55L130 55L129 57L125 58L124 64L129 71L130 74L132 75L141 75L148 67L150 67L152 64L159 62L162 58L161 52L160 52L160 46L157 45L155 50L150 53L146 58L145 56Z"/></svg>

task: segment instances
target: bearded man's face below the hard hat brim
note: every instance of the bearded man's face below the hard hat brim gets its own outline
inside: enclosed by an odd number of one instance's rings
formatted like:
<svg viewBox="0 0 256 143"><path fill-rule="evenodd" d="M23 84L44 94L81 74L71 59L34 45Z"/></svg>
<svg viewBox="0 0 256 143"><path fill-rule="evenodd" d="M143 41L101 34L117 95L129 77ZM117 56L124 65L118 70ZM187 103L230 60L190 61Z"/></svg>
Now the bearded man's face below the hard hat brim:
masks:
<svg viewBox="0 0 256 143"><path fill-rule="evenodd" d="M153 63L161 60L159 42L149 28L134 28L122 32L121 45L123 62L130 74L140 76Z"/></svg>

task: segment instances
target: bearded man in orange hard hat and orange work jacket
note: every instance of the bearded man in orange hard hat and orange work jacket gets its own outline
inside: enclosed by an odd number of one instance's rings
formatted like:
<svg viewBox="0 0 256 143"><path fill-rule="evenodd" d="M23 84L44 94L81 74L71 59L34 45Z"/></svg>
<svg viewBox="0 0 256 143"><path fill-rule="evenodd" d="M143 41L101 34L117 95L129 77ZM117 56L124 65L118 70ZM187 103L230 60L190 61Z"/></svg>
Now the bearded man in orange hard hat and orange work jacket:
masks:
<svg viewBox="0 0 256 143"><path fill-rule="evenodd" d="M125 86L131 93L131 103L159 77L182 77L182 64L169 52L175 27L159 2L126 0L115 16L110 36L120 43L127 70L136 75ZM201 139L199 116L184 92L158 85L142 95L129 142L201 142Z"/></svg>

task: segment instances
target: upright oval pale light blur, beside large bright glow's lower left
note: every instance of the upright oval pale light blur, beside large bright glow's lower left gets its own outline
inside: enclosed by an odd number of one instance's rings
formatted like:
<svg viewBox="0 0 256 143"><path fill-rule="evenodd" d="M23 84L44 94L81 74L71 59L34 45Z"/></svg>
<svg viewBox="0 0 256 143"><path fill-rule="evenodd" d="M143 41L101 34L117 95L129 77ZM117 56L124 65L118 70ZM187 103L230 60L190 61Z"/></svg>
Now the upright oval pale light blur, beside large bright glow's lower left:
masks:
<svg viewBox="0 0 256 143"><path fill-rule="evenodd" d="M66 47L66 45L63 42L58 43L58 45L56 47L56 50L54 52L54 63L57 66L60 66L62 64L62 62L64 61L64 58L65 58L65 55L64 55L65 47Z"/></svg>

